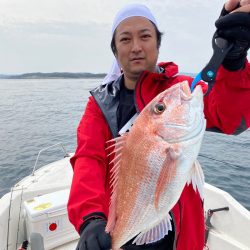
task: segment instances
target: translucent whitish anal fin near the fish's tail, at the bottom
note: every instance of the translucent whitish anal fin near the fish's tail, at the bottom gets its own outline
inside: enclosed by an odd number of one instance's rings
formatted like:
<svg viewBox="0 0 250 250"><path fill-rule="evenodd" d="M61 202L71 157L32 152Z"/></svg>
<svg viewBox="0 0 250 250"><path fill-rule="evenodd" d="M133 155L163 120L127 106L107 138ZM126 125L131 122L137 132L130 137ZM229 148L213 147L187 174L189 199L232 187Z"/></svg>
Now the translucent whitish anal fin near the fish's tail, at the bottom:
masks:
<svg viewBox="0 0 250 250"><path fill-rule="evenodd" d="M156 242L162 239L168 234L168 231L172 231L171 216L168 214L162 221L155 227L150 228L147 231L141 232L134 239L133 244L143 245Z"/></svg>

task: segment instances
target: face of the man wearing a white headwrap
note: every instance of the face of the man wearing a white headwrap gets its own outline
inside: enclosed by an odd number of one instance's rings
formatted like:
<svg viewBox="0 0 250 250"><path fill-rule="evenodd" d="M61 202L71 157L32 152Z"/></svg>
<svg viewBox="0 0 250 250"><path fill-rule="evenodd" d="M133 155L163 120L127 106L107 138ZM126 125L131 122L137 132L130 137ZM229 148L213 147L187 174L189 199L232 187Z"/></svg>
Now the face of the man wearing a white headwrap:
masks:
<svg viewBox="0 0 250 250"><path fill-rule="evenodd" d="M138 78L155 71L158 58L156 30L144 17L129 17L116 28L116 58L125 77Z"/></svg>

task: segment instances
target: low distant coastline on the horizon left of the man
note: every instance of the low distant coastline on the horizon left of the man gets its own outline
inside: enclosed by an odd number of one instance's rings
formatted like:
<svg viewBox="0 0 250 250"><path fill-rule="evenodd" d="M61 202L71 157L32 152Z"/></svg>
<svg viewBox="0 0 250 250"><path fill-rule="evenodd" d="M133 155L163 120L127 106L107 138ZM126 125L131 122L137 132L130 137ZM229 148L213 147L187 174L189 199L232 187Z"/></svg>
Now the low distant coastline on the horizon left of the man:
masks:
<svg viewBox="0 0 250 250"><path fill-rule="evenodd" d="M60 79L60 78L103 78L106 74L93 73L69 73L69 72L53 72L53 73L25 73L20 75L1 75L0 79Z"/></svg>

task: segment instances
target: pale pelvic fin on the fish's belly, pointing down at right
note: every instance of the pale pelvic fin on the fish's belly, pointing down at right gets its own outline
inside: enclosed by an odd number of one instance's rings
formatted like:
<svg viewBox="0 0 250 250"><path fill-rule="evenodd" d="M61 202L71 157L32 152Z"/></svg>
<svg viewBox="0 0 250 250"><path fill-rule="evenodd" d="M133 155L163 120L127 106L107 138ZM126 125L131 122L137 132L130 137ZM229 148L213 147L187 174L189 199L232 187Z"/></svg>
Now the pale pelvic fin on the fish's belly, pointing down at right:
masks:
<svg viewBox="0 0 250 250"><path fill-rule="evenodd" d="M203 200L205 177L201 165L197 160L194 162L191 175L187 183L192 183L194 191L196 192L198 190L200 197Z"/></svg>

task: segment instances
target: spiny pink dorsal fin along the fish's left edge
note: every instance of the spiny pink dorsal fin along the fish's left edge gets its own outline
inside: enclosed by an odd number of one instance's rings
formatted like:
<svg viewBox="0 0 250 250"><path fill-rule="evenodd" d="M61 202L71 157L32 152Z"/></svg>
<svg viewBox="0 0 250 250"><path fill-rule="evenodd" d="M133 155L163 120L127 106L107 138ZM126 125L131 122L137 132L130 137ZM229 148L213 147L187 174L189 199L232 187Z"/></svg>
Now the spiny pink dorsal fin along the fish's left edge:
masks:
<svg viewBox="0 0 250 250"><path fill-rule="evenodd" d="M120 169L120 163L121 163L121 155L122 155L122 149L123 145L126 141L128 133L123 134L120 137L114 138L107 143L112 143L111 146L107 148L114 147L114 150L111 154L115 154L114 159L109 163L112 165L112 168L110 170L110 185L112 187L112 193L110 198L110 205L109 205L109 216L108 216L108 223L106 226L106 232L110 233L113 231L115 222L116 222L116 199L117 199L117 185L118 185L118 177L119 177L119 169Z"/></svg>

